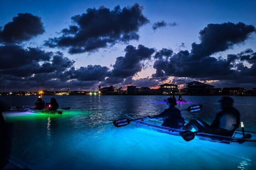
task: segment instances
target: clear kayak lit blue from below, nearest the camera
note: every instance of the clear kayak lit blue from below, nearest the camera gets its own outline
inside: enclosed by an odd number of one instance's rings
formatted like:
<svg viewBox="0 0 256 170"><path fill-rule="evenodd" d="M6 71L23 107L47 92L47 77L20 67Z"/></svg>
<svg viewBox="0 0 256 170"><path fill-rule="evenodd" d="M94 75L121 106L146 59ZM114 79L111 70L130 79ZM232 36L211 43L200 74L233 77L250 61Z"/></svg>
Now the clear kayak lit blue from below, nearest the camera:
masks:
<svg viewBox="0 0 256 170"><path fill-rule="evenodd" d="M130 115L127 114L126 117L128 119L134 119L134 116L138 115ZM184 131L181 129L175 129L175 128L169 128L165 126L161 126L162 121L154 121L154 120L149 120L148 118L145 118L142 116L142 119L135 120L133 121L136 123L136 125L139 128L144 128L160 133L165 133L165 134L171 134L175 136L180 136L180 132ZM138 117L137 117L138 118ZM195 134L195 139L199 140L204 140L204 141L211 141L211 142L218 142L218 143L225 143L225 144L231 144L231 143L250 143L250 144L256 144L256 133L252 131L245 131L245 133L251 134L251 138L243 138L243 133L240 130L236 130L235 133L233 134L232 137L227 137L227 136L221 136L221 135L215 135L215 134L206 134L206 133L197 133Z"/></svg>

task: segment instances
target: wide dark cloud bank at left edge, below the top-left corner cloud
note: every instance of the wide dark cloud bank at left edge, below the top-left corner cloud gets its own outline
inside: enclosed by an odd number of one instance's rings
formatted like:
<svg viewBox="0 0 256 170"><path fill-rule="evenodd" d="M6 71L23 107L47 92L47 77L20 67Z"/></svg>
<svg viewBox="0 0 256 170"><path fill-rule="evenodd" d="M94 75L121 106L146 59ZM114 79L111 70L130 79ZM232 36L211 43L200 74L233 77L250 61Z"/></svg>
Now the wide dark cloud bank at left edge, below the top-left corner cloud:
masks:
<svg viewBox="0 0 256 170"><path fill-rule="evenodd" d="M39 48L23 49L18 45L0 46L0 60L4 61L0 64L0 74L17 77L54 72L60 76L59 73L74 64L73 60L64 57L61 52L46 52Z"/></svg>

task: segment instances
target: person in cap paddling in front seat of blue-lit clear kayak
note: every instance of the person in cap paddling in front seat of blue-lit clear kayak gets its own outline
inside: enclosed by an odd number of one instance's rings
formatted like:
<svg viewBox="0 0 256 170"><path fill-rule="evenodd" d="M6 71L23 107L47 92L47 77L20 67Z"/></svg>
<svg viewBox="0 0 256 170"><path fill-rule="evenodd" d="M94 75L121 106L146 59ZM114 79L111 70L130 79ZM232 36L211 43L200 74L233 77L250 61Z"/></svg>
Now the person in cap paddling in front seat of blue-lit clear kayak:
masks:
<svg viewBox="0 0 256 170"><path fill-rule="evenodd" d="M156 116L148 116L151 120L161 120L163 119L162 126L170 128L182 128L185 121L181 116L181 111L176 108L177 105L175 97L169 97L167 99L168 109L165 109L162 113Z"/></svg>

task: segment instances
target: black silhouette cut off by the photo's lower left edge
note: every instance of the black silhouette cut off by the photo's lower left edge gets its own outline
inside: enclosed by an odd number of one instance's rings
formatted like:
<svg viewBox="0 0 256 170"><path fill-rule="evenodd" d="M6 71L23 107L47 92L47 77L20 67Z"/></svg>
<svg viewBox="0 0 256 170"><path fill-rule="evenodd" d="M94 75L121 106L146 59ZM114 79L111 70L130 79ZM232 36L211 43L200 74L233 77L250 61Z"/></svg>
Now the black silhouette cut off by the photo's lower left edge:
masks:
<svg viewBox="0 0 256 170"><path fill-rule="evenodd" d="M8 159L10 157L10 149L11 149L11 140L9 138L9 128L7 123L5 123L5 119L2 115L2 112L8 111L9 106L4 101L0 100L0 159L1 159L1 167L4 168L8 163Z"/></svg>

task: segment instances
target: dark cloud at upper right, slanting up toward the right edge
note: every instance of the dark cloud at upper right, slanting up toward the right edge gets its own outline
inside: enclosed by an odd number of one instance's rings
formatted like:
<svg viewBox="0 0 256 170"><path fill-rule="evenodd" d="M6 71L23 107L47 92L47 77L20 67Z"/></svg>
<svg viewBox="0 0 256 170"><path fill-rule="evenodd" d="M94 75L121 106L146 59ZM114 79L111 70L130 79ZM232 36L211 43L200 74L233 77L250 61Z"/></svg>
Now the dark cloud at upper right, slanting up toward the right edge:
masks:
<svg viewBox="0 0 256 170"><path fill-rule="evenodd" d="M252 25L244 23L208 24L199 32L200 44L192 44L191 59L200 60L219 51L232 48L233 45L244 42L250 33L255 32Z"/></svg>

